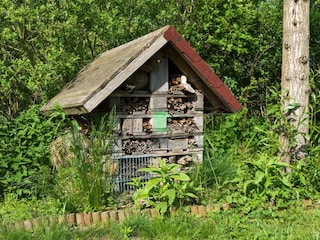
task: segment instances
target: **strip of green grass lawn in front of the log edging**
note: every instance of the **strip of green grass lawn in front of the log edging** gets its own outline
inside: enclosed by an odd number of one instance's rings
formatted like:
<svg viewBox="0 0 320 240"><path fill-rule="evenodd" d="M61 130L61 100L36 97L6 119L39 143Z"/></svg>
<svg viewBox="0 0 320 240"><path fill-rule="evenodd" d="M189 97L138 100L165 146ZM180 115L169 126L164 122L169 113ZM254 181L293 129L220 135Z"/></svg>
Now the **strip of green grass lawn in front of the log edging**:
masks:
<svg viewBox="0 0 320 240"><path fill-rule="evenodd" d="M300 208L242 216L233 211L206 218L184 214L167 219L133 217L123 223L87 229L65 226L35 232L2 227L0 239L320 239L320 209Z"/></svg>

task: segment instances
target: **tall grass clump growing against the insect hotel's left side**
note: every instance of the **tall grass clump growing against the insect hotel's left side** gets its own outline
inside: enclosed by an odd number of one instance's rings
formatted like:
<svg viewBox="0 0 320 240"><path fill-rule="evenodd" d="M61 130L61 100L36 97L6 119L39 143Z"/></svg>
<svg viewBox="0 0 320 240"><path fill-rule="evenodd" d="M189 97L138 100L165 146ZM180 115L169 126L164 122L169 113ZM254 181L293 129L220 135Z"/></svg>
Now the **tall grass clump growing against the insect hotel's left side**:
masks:
<svg viewBox="0 0 320 240"><path fill-rule="evenodd" d="M91 124L89 136L71 121L71 134L62 141L70 149L62 152L63 165L57 167L55 193L69 211L103 209L113 196L111 163L115 113L111 111Z"/></svg>

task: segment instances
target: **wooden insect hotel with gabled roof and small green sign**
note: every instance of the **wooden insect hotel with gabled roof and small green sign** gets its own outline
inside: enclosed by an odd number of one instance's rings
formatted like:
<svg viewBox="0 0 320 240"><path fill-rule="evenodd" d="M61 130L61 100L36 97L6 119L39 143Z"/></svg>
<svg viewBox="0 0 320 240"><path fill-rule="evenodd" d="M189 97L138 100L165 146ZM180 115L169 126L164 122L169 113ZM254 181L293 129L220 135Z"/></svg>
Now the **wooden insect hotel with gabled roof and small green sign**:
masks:
<svg viewBox="0 0 320 240"><path fill-rule="evenodd" d="M241 108L172 26L99 55L41 110L50 113L56 104L69 115L87 117L116 109L118 183L159 159L184 166L201 162L204 113Z"/></svg>

